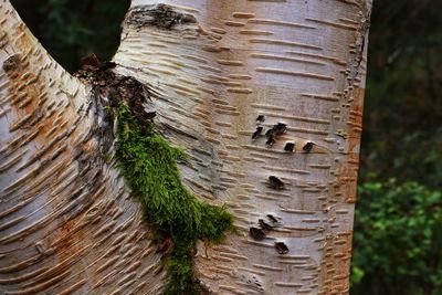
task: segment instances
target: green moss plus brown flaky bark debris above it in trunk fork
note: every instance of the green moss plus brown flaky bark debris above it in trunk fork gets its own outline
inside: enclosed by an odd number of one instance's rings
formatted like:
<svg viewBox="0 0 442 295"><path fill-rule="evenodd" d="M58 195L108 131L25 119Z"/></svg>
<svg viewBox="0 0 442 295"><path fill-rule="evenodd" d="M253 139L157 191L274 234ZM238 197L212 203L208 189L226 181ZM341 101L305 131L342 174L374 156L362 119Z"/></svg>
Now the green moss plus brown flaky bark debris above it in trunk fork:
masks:
<svg viewBox="0 0 442 295"><path fill-rule="evenodd" d="M106 152L112 143L105 139L113 138L116 119L119 168L139 199L145 220L166 257L165 294L200 294L203 289L193 267L197 241L222 241L228 231L234 231L233 217L224 208L203 203L186 189L177 166L177 161L187 160L186 152L156 130L155 112L144 107L156 94L137 80L116 74L115 66L92 55L75 74L93 86L94 102L105 118L95 126L104 147L103 159L109 160Z"/></svg>

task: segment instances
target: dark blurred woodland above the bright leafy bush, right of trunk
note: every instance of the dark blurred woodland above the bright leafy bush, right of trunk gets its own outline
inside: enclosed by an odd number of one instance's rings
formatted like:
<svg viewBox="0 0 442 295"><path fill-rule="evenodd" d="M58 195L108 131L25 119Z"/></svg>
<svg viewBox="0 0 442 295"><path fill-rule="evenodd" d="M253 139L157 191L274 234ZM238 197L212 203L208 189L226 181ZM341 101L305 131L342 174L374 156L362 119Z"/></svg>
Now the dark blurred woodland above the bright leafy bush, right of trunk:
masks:
<svg viewBox="0 0 442 295"><path fill-rule="evenodd" d="M373 1L361 182L442 187L440 11L440 0Z"/></svg>

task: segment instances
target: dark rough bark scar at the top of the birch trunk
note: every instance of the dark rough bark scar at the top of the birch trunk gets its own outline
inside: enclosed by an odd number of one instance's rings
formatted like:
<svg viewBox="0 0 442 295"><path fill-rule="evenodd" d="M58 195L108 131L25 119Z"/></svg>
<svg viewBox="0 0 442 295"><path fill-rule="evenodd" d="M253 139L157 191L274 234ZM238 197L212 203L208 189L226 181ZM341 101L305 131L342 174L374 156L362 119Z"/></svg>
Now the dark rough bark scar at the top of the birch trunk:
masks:
<svg viewBox="0 0 442 295"><path fill-rule="evenodd" d="M126 15L125 23L135 27L154 25L161 29L173 29L175 25L197 23L197 19L189 13L176 11L167 4L135 7Z"/></svg>

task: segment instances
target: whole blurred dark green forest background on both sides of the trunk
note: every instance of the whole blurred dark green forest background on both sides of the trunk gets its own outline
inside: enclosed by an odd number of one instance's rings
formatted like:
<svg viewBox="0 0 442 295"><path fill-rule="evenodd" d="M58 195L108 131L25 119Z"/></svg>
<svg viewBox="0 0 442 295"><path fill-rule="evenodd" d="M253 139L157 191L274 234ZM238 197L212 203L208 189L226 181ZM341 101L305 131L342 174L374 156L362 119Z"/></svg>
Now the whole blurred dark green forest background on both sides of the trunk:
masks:
<svg viewBox="0 0 442 295"><path fill-rule="evenodd" d="M69 71L109 60L129 1L12 0ZM375 0L351 294L442 294L442 0Z"/></svg>

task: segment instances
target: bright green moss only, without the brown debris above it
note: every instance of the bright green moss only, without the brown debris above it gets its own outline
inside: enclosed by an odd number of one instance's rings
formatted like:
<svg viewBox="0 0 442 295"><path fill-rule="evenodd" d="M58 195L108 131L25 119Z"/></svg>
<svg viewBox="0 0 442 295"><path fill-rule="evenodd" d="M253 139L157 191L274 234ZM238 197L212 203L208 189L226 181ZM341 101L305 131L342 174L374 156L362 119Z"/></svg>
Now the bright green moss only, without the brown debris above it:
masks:
<svg viewBox="0 0 442 295"><path fill-rule="evenodd" d="M198 294L192 253L197 240L220 242L233 231L233 219L223 208L198 200L181 183L177 160L186 154L158 134L149 122L140 123L120 104L117 116L117 158L133 193L158 241L171 239L166 294Z"/></svg>

